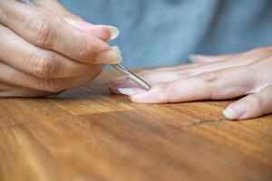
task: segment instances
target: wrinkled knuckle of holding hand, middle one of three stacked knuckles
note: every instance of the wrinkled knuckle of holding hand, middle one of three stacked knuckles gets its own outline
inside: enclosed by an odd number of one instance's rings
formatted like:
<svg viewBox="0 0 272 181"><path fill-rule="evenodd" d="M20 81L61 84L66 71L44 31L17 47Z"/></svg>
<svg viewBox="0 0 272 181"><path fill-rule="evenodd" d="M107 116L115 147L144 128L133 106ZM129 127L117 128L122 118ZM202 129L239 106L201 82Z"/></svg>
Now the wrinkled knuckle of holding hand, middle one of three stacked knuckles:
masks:
<svg viewBox="0 0 272 181"><path fill-rule="evenodd" d="M53 53L34 52L29 62L28 69L40 78L52 78L57 71L57 61Z"/></svg>

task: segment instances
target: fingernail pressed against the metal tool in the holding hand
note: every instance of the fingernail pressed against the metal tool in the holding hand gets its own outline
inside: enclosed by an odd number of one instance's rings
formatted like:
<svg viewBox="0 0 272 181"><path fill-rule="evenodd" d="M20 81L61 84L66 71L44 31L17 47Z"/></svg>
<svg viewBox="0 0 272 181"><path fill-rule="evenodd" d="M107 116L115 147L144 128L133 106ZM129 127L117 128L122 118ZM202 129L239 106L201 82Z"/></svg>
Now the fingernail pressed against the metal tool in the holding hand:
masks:
<svg viewBox="0 0 272 181"><path fill-rule="evenodd" d="M118 52L114 51L106 51L106 52L101 52L95 57L96 63L111 63L111 64L117 64L121 63L122 58L121 54Z"/></svg>

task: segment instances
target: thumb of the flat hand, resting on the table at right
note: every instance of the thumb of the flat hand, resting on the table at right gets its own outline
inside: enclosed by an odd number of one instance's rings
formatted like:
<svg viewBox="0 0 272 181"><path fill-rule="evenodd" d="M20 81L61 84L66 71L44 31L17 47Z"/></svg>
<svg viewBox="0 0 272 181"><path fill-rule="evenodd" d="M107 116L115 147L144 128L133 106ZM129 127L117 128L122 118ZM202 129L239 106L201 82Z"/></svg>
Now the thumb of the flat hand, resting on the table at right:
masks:
<svg viewBox="0 0 272 181"><path fill-rule="evenodd" d="M269 113L272 113L272 85L230 104L224 110L228 119L254 119Z"/></svg>

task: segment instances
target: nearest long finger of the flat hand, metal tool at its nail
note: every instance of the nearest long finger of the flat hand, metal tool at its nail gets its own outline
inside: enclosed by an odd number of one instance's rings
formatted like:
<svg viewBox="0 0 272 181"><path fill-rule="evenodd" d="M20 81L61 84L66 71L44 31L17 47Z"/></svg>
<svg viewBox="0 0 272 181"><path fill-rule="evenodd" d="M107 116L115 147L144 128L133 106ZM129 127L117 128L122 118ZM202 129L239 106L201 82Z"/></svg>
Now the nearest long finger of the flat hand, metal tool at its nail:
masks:
<svg viewBox="0 0 272 181"><path fill-rule="evenodd" d="M133 88L119 89L119 91L131 96L132 101L140 103L223 100L252 91L255 82L252 80L252 74L248 68L237 67L156 84L151 90L141 93L139 89L134 92Z"/></svg>

